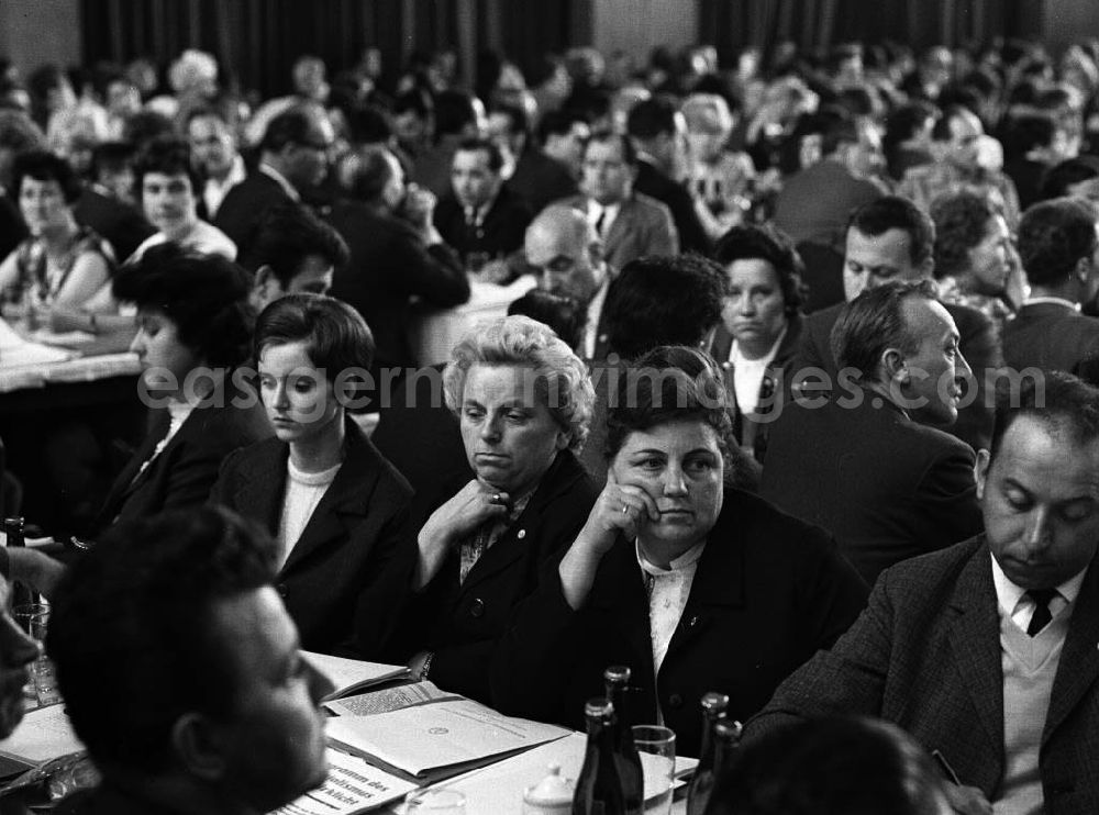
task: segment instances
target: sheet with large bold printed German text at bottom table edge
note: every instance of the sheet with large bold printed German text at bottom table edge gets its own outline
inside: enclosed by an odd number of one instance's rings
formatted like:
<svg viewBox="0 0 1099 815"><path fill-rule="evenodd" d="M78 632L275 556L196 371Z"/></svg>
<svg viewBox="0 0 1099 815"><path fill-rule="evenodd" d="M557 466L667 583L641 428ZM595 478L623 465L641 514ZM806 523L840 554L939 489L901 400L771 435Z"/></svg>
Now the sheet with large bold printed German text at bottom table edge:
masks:
<svg viewBox="0 0 1099 815"><path fill-rule="evenodd" d="M417 788L346 752L330 748L328 759L324 783L274 815L352 815L404 797Z"/></svg>

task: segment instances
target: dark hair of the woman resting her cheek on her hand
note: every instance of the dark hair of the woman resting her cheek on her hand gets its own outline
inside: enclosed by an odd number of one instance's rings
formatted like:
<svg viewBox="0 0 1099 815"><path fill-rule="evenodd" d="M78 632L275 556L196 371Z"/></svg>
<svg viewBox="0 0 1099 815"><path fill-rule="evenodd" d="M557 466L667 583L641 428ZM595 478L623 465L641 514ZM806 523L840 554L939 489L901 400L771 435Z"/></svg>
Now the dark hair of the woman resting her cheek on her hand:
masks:
<svg viewBox="0 0 1099 815"><path fill-rule="evenodd" d="M631 433L697 418L714 429L729 464L733 425L728 395L717 362L704 351L685 345L652 348L619 373L617 395L607 410L608 460Z"/></svg>

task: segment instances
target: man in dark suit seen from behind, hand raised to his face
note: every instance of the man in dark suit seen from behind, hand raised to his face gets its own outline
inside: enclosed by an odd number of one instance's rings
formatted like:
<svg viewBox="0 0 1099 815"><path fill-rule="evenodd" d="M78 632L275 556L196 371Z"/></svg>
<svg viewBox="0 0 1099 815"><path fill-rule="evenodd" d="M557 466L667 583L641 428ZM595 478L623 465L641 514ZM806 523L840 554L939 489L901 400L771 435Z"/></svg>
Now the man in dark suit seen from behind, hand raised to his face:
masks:
<svg viewBox="0 0 1099 815"><path fill-rule="evenodd" d="M469 299L469 280L432 224L434 196L406 191L396 156L385 149L353 154L341 164L340 177L352 199L337 203L329 221L347 242L351 261L336 271L330 293L370 326L375 372L414 367L411 298L437 308L459 305Z"/></svg>

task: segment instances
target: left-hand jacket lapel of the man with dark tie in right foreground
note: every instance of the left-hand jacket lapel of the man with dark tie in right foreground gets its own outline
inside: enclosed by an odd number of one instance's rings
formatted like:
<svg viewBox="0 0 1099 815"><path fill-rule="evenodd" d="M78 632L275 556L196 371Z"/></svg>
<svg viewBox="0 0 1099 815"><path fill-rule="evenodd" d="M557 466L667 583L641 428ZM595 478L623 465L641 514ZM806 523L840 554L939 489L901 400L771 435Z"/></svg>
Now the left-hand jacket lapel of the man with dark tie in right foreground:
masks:
<svg viewBox="0 0 1099 815"><path fill-rule="evenodd" d="M962 683L977 710L993 755L1003 747L1003 669L996 587L987 546L980 546L958 577L951 606L957 616L950 626Z"/></svg>

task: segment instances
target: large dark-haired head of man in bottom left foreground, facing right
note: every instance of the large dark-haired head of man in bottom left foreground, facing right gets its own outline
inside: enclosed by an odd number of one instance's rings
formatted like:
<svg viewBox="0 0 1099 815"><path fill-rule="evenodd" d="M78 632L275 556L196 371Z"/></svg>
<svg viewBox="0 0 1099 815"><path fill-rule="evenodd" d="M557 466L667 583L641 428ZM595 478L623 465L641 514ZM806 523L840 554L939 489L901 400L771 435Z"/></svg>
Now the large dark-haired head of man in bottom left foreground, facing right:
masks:
<svg viewBox="0 0 1099 815"><path fill-rule="evenodd" d="M324 780L331 684L274 577L264 534L211 509L119 526L69 569L47 647L107 784L151 808L262 813Z"/></svg>

